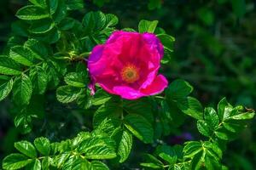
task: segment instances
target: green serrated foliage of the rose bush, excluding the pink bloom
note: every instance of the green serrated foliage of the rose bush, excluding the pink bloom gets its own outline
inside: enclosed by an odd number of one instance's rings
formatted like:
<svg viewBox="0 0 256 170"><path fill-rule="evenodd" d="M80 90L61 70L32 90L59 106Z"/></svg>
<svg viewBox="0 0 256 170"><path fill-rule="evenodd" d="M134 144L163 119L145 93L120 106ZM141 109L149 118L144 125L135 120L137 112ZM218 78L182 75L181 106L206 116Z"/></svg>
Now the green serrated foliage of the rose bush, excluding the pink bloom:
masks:
<svg viewBox="0 0 256 170"><path fill-rule="evenodd" d="M93 2L99 6L109 3ZM150 9L160 6L161 1L148 3ZM241 17L244 12L237 6L232 7ZM20 20L14 22L12 37L0 58L0 100L8 96L12 100L15 127L24 135L36 131L32 127L36 121L43 125L48 111L55 114L45 109L48 105L64 108L61 114L66 116L66 111L78 111L74 115L79 121L84 115L90 121L79 128L82 132L76 136L52 139L45 135L34 137L33 144L32 140L16 142L19 153L6 156L3 169L122 168L129 163L137 143L154 149L152 154L143 150L145 161L138 160L142 168L227 168L222 162L226 144L236 139L254 111L241 105L233 107L225 98L217 110L203 109L201 102L191 97L194 88L182 79L171 82L165 93L143 99L119 99L100 87L91 95L86 59L96 44L105 42L117 30L119 19L100 11L90 11L82 20L73 17L83 8L81 0L30 0L16 13ZM174 37L160 28L157 20L141 20L137 31L159 37L165 48L161 62L168 65ZM194 127L202 134L201 139L166 144L163 139L186 119L196 121Z"/></svg>

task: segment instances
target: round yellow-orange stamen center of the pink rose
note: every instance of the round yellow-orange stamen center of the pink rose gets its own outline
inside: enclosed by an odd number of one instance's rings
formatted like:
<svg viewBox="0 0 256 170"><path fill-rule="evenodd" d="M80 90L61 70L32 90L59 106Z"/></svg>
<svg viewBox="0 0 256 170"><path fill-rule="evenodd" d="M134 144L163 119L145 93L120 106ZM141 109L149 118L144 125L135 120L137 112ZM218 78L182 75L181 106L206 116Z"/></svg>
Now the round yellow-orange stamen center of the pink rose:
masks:
<svg viewBox="0 0 256 170"><path fill-rule="evenodd" d="M139 79L138 69L135 65L125 65L121 71L121 77L125 82L136 82Z"/></svg>

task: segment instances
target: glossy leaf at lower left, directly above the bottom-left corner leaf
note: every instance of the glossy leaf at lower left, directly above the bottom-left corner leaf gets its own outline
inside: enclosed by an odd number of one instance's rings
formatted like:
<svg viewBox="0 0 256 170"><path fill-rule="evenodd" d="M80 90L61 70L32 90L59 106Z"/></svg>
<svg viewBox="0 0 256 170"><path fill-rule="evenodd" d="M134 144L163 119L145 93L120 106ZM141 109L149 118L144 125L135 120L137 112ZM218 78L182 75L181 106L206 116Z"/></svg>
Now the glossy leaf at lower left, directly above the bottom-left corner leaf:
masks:
<svg viewBox="0 0 256 170"><path fill-rule="evenodd" d="M37 157L37 150L35 149L33 144L31 144L30 142L28 142L26 140L16 142L15 148L17 150L19 150L22 154L24 154L28 157L31 157L31 158Z"/></svg>

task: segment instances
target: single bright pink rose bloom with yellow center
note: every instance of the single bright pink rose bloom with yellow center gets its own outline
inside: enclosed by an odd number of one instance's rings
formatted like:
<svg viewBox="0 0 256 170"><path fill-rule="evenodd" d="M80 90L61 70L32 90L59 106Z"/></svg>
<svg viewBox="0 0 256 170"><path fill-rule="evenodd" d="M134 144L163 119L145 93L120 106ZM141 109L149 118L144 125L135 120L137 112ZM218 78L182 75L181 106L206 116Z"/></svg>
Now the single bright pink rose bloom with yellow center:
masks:
<svg viewBox="0 0 256 170"><path fill-rule="evenodd" d="M163 55L154 34L114 31L107 42L93 48L88 69L92 81L109 94L138 99L167 87L166 77L158 75Z"/></svg>

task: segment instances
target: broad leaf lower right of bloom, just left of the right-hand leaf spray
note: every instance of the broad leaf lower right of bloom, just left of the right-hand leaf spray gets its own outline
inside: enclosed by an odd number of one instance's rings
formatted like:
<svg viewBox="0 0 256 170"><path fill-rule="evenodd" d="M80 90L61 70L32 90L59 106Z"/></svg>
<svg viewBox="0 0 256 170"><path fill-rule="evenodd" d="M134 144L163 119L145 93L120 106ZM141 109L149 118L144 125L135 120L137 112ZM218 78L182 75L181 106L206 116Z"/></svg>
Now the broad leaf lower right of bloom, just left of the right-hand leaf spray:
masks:
<svg viewBox="0 0 256 170"><path fill-rule="evenodd" d="M203 119L203 109L201 103L192 97L177 99L177 107L186 115L192 116L195 119Z"/></svg>

